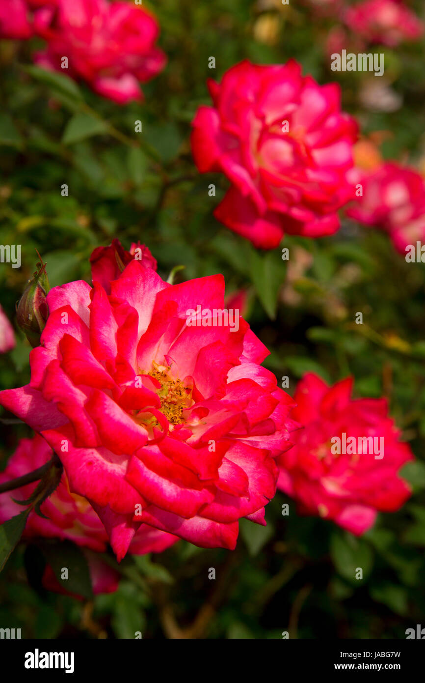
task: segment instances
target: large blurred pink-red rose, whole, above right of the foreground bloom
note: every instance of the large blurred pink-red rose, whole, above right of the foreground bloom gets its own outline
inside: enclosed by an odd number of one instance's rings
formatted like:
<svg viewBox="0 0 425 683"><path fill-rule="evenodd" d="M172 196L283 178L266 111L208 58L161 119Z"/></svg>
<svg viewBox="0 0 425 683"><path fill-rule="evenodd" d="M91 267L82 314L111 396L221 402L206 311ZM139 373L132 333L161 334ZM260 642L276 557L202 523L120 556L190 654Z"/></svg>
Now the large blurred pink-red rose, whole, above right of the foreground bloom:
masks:
<svg viewBox="0 0 425 683"><path fill-rule="evenodd" d="M242 61L220 84L213 107L200 107L192 130L199 171L231 180L214 215L256 247L276 247L284 231L308 237L335 232L337 210L353 197L357 125L340 111L340 88L284 66Z"/></svg>

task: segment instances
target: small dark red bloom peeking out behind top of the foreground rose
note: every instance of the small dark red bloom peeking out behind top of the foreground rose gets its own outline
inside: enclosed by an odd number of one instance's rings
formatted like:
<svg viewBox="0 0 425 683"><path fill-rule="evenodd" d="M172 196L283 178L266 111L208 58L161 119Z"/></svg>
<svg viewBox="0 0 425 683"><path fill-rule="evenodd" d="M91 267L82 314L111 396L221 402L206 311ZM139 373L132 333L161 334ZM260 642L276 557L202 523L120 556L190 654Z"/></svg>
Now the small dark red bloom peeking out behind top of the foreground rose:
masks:
<svg viewBox="0 0 425 683"><path fill-rule="evenodd" d="M119 240L113 240L108 247L96 247L90 256L92 281L100 282L110 294L111 281L116 280L133 259L138 260L145 268L156 270L158 266L149 249L140 242L133 242L130 251L126 251Z"/></svg>

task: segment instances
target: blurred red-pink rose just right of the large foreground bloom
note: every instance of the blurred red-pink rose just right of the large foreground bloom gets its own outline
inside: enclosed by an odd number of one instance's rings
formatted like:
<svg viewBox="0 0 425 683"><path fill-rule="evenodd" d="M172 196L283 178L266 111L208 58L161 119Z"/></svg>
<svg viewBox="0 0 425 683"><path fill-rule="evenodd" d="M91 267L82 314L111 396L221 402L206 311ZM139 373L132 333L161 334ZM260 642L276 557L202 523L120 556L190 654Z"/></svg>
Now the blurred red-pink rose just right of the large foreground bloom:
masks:
<svg viewBox="0 0 425 683"><path fill-rule="evenodd" d="M278 488L295 498L302 514L332 519L360 535L367 531L377 512L394 512L409 498L411 490L398 475L413 460L400 432L387 416L385 399L351 399L352 378L327 387L319 376L307 373L297 385L293 419L304 424L294 435L293 448L278 458ZM383 458L370 454L332 454L333 437L342 434L383 437ZM358 449L360 450L360 449ZM379 454L381 455L381 454Z"/></svg>

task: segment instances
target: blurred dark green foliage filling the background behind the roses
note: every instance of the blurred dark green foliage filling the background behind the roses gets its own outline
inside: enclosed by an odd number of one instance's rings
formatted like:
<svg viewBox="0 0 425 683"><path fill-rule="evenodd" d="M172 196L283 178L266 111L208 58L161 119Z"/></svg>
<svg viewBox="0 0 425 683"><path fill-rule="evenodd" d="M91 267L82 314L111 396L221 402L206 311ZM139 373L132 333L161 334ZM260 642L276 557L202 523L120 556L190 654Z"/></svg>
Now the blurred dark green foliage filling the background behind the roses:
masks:
<svg viewBox="0 0 425 683"><path fill-rule="evenodd" d="M185 266L177 281L223 273L229 293L248 290L246 317L271 350L265 365L279 382L289 376L290 393L313 370L329 382L353 374L355 395L387 397L417 458L403 471L414 495L355 539L297 516L278 492L267 527L242 520L234 553L179 542L162 555L128 557L117 593L94 602L40 589L40 551L22 543L0 579L0 623L39 638L134 638L136 631L143 638L281 638L286 630L291 638L404 638L425 614L425 268L407 264L384 234L351 221L331 238L284 238L289 261L280 249L255 251L212 216L226 180L199 175L189 134L196 108L209 104L207 78L220 79L244 58L295 57L320 83L340 82L345 109L364 135L379 137L385 158L424 168L424 40L384 48L387 85L400 106L383 111L362 104L370 74L330 71L324 42L332 18L314 18L307 3L144 4L158 16L168 65L143 86L143 104L118 107L31 66L36 40L0 43L0 242L22 245L23 257L19 269L0 266L1 305L13 319L35 249L58 285L89 280L91 251L114 237L126 248L132 240L147 244L164 278L176 264ZM213 182L217 195L209 197ZM354 322L357 311L363 325ZM18 332L17 339L0 357L2 388L29 380L29 345ZM25 426L3 428L3 466L27 435ZM357 566L362 581L352 578Z"/></svg>

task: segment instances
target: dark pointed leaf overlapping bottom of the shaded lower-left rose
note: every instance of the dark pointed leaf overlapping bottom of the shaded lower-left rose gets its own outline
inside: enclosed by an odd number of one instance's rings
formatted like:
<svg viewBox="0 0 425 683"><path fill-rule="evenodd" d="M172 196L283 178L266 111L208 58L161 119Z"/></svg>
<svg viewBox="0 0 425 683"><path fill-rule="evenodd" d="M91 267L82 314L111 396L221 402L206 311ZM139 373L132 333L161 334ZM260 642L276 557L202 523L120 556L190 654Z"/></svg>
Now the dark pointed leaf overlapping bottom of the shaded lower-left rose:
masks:
<svg viewBox="0 0 425 683"><path fill-rule="evenodd" d="M78 546L70 541L46 542L40 544L40 550L65 590L88 600L93 598L87 559ZM68 579L61 578L63 568L68 569Z"/></svg>

